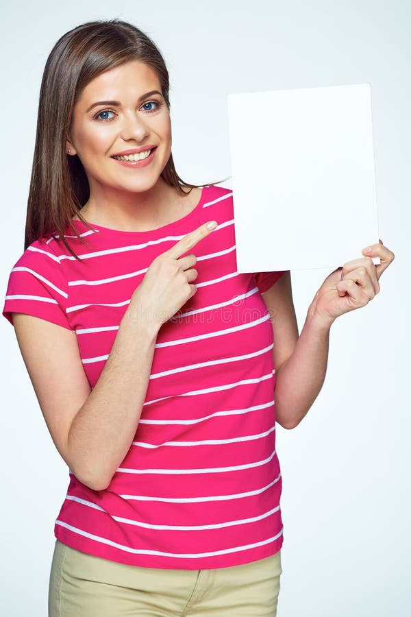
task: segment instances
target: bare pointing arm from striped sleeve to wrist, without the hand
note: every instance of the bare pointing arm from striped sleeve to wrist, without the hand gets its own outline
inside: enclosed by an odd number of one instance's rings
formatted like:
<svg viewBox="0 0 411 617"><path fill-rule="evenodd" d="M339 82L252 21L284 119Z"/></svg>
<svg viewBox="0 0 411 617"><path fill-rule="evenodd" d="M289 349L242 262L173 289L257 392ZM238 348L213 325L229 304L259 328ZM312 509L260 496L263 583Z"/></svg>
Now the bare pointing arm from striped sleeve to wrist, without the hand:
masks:
<svg viewBox="0 0 411 617"><path fill-rule="evenodd" d="M157 331L127 311L91 390L75 332L23 313L13 324L55 447L80 482L105 489L136 433Z"/></svg>

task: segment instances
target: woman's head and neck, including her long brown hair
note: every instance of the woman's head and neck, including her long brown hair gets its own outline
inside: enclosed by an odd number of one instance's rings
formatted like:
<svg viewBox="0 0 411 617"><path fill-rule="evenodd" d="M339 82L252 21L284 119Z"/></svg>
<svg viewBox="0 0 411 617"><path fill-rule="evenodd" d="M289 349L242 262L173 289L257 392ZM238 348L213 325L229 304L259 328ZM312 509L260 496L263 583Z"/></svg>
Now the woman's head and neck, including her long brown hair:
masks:
<svg viewBox="0 0 411 617"><path fill-rule="evenodd" d="M40 88L25 248L58 234L77 258L64 234L69 225L77 236L75 219L142 230L189 212L205 185L184 182L175 170L169 109L164 59L138 28L114 20L64 34ZM135 162L126 162L131 155ZM142 191L138 217L127 187Z"/></svg>

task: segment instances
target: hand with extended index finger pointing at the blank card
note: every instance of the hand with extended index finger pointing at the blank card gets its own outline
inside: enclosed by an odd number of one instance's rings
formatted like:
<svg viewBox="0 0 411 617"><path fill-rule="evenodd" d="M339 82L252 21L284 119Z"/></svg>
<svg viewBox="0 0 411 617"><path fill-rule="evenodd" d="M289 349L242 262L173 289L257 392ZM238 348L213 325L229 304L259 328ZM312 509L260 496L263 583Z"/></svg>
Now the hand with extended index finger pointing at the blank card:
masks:
<svg viewBox="0 0 411 617"><path fill-rule="evenodd" d="M214 226L208 229L210 223ZM160 329L192 298L197 291L192 284L198 274L193 267L197 257L192 253L182 255L208 236L216 226L216 221L204 223L153 259L130 300L127 312L131 311L133 319L143 319Z"/></svg>

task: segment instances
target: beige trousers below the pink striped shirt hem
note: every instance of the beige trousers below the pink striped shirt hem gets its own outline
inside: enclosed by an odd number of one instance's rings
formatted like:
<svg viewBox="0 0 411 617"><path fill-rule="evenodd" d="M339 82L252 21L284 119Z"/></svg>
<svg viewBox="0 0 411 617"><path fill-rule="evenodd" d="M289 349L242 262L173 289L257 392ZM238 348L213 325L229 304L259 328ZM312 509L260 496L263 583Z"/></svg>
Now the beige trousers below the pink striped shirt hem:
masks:
<svg viewBox="0 0 411 617"><path fill-rule="evenodd" d="M280 553L214 570L160 570L86 555L55 541L49 617L275 617Z"/></svg>

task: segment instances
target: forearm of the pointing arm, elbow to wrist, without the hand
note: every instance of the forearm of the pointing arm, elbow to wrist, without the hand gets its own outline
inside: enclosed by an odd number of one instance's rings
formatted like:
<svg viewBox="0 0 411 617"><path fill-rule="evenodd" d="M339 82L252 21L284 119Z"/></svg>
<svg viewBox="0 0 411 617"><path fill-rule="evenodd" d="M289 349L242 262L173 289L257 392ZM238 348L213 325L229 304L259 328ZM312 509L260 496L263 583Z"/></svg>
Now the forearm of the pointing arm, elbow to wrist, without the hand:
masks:
<svg viewBox="0 0 411 617"><path fill-rule="evenodd" d="M133 314L134 313L134 314ZM123 315L110 356L67 438L73 474L104 489L132 444L145 400L158 327Z"/></svg>

